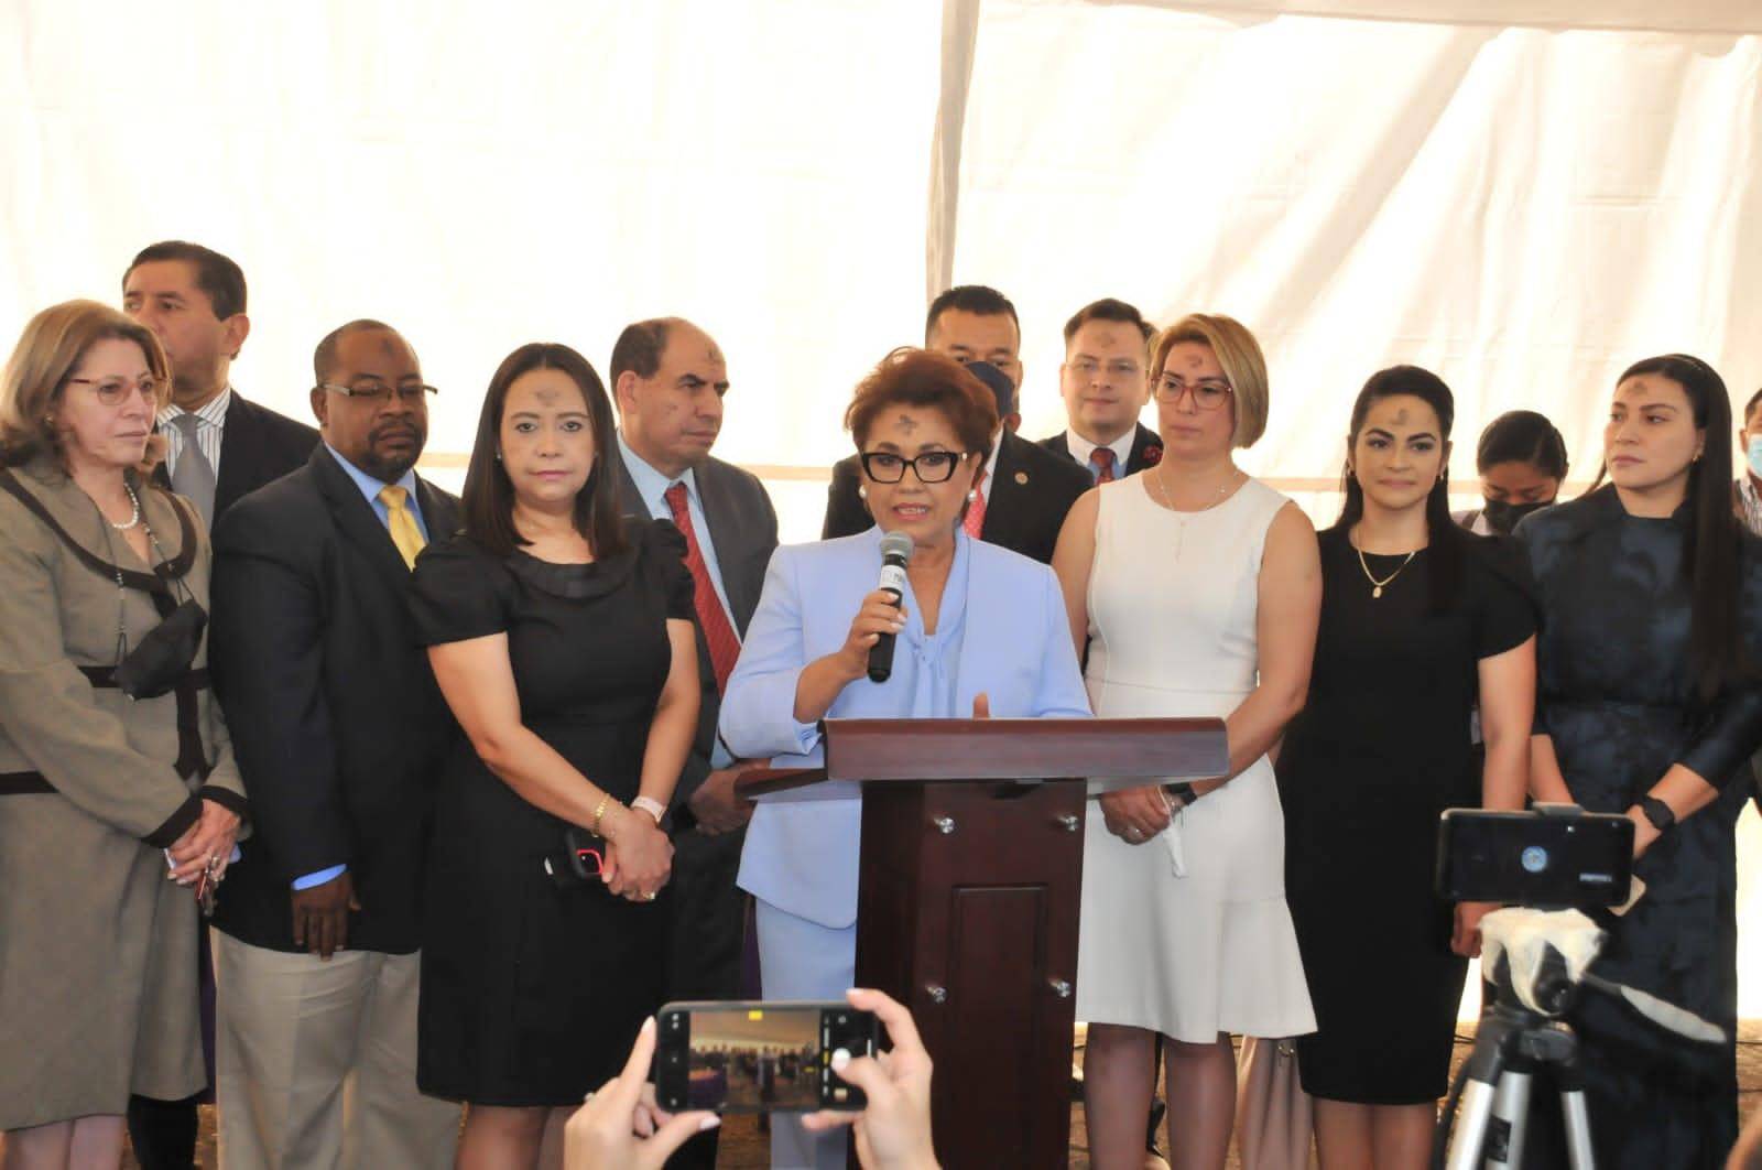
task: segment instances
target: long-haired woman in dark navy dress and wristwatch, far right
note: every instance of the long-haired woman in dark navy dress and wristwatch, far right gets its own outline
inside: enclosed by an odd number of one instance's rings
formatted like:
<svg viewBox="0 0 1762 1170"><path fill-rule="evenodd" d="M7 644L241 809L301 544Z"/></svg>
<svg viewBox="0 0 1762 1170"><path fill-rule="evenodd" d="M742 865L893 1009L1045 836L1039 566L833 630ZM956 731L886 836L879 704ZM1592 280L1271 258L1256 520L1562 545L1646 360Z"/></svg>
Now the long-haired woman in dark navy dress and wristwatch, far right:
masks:
<svg viewBox="0 0 1762 1170"><path fill-rule="evenodd" d="M1721 1166L1737 1137L1737 812L1762 744L1762 567L1732 516L1730 402L1670 354L1616 384L1609 481L1517 527L1542 599L1531 786L1625 812L1646 893L1598 974L1727 1029L1695 1045L1607 996L1572 1015L1598 1166ZM1598 476L1598 479L1603 478ZM1531 1110L1531 1126L1558 1110Z"/></svg>

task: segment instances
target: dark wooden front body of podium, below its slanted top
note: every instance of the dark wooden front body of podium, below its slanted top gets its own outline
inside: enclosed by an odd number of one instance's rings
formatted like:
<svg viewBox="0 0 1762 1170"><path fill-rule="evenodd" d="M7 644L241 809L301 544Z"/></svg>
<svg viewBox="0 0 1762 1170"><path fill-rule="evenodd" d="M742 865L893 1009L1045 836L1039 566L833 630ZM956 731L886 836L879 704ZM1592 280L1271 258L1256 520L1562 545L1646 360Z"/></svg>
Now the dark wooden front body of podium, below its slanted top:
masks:
<svg viewBox="0 0 1762 1170"><path fill-rule="evenodd" d="M911 1008L944 1166L1062 1166L1084 782L863 793L856 981Z"/></svg>

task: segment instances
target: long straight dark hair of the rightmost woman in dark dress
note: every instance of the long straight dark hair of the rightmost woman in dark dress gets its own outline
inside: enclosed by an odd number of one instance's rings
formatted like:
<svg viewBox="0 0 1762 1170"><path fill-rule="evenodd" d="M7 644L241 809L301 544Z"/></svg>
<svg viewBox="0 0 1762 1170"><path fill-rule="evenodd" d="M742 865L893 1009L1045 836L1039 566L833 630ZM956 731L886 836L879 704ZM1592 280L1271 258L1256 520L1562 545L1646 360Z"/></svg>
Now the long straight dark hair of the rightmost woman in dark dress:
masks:
<svg viewBox="0 0 1762 1170"><path fill-rule="evenodd" d="M1630 377L1667 377L1688 395L1695 428L1706 433L1700 458L1688 465L1688 539L1683 541L1683 576L1690 583L1688 661L1695 692L1711 703L1720 689L1750 670L1737 643L1739 529L1732 511L1732 400L1725 379L1700 358L1663 354L1635 361L1616 386ZM1609 474L1609 453L1591 483L1595 492Z"/></svg>

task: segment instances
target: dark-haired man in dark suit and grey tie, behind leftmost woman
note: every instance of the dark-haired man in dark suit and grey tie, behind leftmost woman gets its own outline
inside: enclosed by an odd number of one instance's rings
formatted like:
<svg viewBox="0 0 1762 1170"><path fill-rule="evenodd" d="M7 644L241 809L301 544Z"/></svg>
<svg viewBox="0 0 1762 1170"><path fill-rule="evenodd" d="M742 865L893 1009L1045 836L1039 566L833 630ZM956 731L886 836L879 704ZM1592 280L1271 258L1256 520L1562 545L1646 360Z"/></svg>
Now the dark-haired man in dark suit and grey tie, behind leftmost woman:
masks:
<svg viewBox="0 0 1762 1170"><path fill-rule="evenodd" d="M171 405L159 412L166 460L159 481L196 502L210 529L233 500L285 476L312 455L319 432L247 400L233 389L250 317L245 273L199 243L166 240L143 248L122 277L122 307L159 337L171 358ZM199 948L203 1029L213 1033L213 974L208 929ZM208 1078L213 1084L213 1047ZM129 1138L143 1170L190 1170L196 1165L196 1103L129 1098Z"/></svg>

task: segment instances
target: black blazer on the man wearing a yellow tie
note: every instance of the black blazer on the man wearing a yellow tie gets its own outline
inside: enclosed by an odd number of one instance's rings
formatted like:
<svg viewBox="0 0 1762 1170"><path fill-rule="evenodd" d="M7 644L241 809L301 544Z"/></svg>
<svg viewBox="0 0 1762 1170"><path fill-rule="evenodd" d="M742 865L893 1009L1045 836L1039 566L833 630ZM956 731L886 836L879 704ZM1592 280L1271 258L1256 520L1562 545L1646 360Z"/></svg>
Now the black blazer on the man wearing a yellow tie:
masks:
<svg viewBox="0 0 1762 1170"><path fill-rule="evenodd" d="M231 423L229 423L231 425ZM458 500L418 479L428 537ZM458 735L409 611L411 571L328 448L215 525L210 670L252 835L215 927L294 952L294 878L347 865L349 946L419 946L432 789Z"/></svg>

